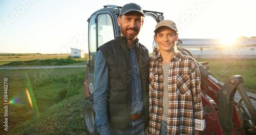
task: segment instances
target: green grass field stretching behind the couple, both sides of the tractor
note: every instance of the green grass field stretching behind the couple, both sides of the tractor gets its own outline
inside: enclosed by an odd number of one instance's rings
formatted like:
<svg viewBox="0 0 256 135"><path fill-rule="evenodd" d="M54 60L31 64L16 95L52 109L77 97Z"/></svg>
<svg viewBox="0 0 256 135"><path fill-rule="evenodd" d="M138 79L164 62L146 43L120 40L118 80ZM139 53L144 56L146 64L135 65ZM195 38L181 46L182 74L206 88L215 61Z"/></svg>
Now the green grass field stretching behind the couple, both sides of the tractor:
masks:
<svg viewBox="0 0 256 135"><path fill-rule="evenodd" d="M35 56L30 57L36 59ZM54 60L56 57L50 58L55 64L58 63ZM40 58L49 59L42 56ZM60 63L68 61L65 57L57 59L63 59ZM27 61L23 56L16 60ZM77 63L73 64L85 64L86 61L85 59L75 60ZM242 75L246 91L256 93L256 59L197 60L208 61L212 76L221 82L227 81L233 75ZM0 58L0 61L3 60ZM36 61L27 66L38 66L43 61L47 60ZM0 67L16 66L12 65L14 62L8 63L10 65L0 65ZM2 89L0 121L2 124L6 118L3 104L5 103L4 78L8 78L8 101L10 102L8 131L0 125L0 134L87 134L82 116L84 72L84 68L0 70Z"/></svg>

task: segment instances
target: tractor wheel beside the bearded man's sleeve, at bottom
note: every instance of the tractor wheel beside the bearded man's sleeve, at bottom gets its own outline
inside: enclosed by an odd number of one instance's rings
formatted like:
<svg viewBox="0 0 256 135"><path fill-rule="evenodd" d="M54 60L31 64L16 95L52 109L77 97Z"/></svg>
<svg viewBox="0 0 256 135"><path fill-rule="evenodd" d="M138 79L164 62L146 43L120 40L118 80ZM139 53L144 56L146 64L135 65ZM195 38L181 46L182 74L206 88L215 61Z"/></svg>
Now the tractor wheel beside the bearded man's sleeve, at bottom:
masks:
<svg viewBox="0 0 256 135"><path fill-rule="evenodd" d="M93 96L87 97L83 102L83 120L88 134L99 134L95 123L95 110L93 106Z"/></svg>

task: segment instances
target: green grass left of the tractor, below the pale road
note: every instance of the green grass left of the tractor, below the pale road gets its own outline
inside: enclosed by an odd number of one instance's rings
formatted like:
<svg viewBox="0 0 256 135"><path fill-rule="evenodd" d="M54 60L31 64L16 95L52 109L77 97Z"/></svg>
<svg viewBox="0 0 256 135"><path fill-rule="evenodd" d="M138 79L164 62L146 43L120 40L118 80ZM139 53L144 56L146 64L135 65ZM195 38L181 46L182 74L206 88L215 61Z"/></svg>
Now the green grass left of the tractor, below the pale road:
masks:
<svg viewBox="0 0 256 135"><path fill-rule="evenodd" d="M16 99L8 107L9 131L2 125L0 134L86 134L82 116L85 68L0 70L0 74L2 82L8 78L8 100ZM32 107L26 95L30 86L34 94L30 97L36 102ZM4 121L3 104L0 113Z"/></svg>

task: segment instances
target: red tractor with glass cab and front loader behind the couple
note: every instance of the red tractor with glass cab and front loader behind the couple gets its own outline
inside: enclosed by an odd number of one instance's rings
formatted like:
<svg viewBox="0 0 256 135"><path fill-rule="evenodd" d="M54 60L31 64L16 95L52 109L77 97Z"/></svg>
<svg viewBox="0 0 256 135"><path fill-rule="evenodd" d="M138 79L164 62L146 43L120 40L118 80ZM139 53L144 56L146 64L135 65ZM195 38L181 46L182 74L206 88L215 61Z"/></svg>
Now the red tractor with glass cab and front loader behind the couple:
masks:
<svg viewBox="0 0 256 135"><path fill-rule="evenodd" d="M121 8L122 7L115 5L103 6L102 9L94 12L87 20L89 22L89 58L84 81L85 98L83 103L83 117L88 134L99 134L95 123L93 104L95 55L98 47L120 35L121 30L117 24L117 18ZM145 18L149 17L154 19L154 26L157 22L164 19L163 13L161 12L149 10L143 10L143 12ZM182 41L178 40L177 46L179 43L182 43ZM186 49L178 46L178 50L183 55L193 57ZM154 40L152 54L158 54L157 45ZM243 77L235 75L230 77L225 83L222 83L211 76L208 62L198 62L197 60L196 62L201 74L201 97L204 111L203 115L206 122L206 128L200 131L200 134L256 134L256 109L251 102L251 100L256 101L256 98L247 95L242 84ZM236 92L239 92L241 95L239 102L234 101ZM245 104L247 111L245 107L241 105L241 102Z"/></svg>

